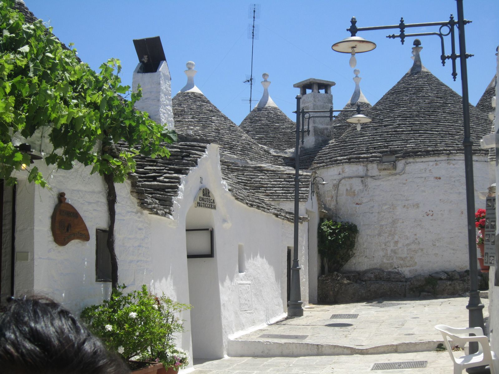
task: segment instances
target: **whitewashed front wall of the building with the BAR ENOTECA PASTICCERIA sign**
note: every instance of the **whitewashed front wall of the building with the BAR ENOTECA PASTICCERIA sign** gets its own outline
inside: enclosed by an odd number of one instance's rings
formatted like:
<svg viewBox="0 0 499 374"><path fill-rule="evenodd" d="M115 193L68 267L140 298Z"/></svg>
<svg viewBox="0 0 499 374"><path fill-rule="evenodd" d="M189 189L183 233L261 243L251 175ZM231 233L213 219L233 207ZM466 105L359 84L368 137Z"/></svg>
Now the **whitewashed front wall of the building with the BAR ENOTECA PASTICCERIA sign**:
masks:
<svg viewBox="0 0 499 374"><path fill-rule="evenodd" d="M38 164L48 176L52 190L29 184L18 188L16 249L30 252L30 257L27 262L16 262L15 293L44 293L78 313L85 306L109 297L110 284L95 281L95 229L107 229L108 225L105 186L102 177L89 176L89 168L50 174L51 169L41 162ZM201 177L203 184L200 184ZM188 260L186 216L202 187L210 188L217 200L217 210L212 211L216 254L214 259ZM179 197L174 202L174 219L151 215L140 209L130 194L128 182L117 184L116 190L119 283L125 283L129 289L147 284L156 293L165 292L172 299L192 304L194 310L203 310L204 305L198 304L199 298L190 298L190 295L196 295L196 285L192 284L191 278L208 276L212 281L215 279L211 286L218 287L219 292L211 295L214 297L212 306L221 311L221 324L216 335L222 341L196 342L201 347L217 347L209 352L210 358L223 357L227 353L229 337L284 315L286 252L287 246L293 243L292 222L234 199L221 176L217 145L210 145L208 155L199 160L198 168L183 178ZM85 220L90 233L89 242L74 240L66 246L59 246L53 241L50 217L59 192L66 193L66 201ZM300 224L301 264L308 261L306 243L307 224L303 223ZM239 244L245 248L245 273L238 271ZM196 269L189 265L192 260L212 261L215 267L200 264ZM191 270L198 273L190 273ZM301 272L304 301L308 300L307 282L305 269ZM211 323L209 318L203 319L206 313L196 315L194 310L183 313L187 332L179 337L181 348L191 352L191 330L203 323Z"/></svg>

